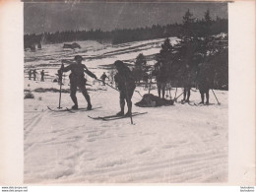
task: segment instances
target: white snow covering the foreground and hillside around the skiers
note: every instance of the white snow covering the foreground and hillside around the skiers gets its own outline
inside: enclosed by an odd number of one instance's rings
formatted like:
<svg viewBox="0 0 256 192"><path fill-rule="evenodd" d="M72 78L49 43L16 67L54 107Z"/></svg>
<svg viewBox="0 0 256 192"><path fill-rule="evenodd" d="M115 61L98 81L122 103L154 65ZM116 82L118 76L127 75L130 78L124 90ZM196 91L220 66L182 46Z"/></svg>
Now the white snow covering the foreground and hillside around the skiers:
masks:
<svg viewBox="0 0 256 192"><path fill-rule="evenodd" d="M125 43L116 46L94 41L79 42L82 50L63 51L62 44L48 45L41 51L26 52L25 69L34 66L49 76L45 82L25 79L25 89L33 99L25 99L24 156L26 183L201 183L227 181L228 92L215 91L221 105L191 106L179 102L172 106L141 108L147 114L115 121L88 117L115 114L119 110L118 93L88 78L92 111L52 112L58 106L58 93L34 92L42 88L58 89L52 83L59 60L82 54L89 68L101 75L102 65L116 59L132 60L139 53L160 51L162 39ZM175 39L172 39L174 42ZM151 61L152 63L154 61ZM68 89L66 80L63 89ZM154 88L156 85L154 85ZM147 93L142 87L136 90ZM172 96L175 90L171 90ZM182 92L178 89L178 95ZM152 91L157 95L156 89ZM199 102L200 95L191 93ZM80 107L87 103L77 94ZM216 103L211 93L210 102ZM134 93L133 102L141 99ZM179 99L180 100L180 99ZM62 94L63 107L71 106L68 93Z"/></svg>

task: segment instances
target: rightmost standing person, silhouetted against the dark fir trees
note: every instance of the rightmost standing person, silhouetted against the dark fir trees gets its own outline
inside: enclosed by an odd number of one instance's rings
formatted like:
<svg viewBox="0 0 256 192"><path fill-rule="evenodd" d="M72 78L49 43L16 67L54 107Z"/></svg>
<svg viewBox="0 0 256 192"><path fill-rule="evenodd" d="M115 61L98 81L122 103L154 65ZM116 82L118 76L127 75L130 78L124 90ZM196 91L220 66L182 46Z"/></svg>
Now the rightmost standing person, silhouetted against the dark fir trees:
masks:
<svg viewBox="0 0 256 192"><path fill-rule="evenodd" d="M206 63L202 63L199 65L199 69L197 71L197 82L198 88L201 95L201 102L199 104L209 104L209 90L210 90L210 68ZM206 102L205 101L206 95Z"/></svg>

